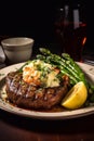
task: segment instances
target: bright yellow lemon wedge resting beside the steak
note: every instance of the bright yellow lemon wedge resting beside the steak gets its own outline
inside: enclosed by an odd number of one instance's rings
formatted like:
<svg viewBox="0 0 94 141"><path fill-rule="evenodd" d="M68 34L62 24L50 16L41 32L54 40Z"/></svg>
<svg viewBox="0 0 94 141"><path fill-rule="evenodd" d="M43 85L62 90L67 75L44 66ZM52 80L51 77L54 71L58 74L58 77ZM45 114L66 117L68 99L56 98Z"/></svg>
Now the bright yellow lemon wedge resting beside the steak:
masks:
<svg viewBox="0 0 94 141"><path fill-rule="evenodd" d="M88 98L88 89L83 81L76 84L62 101L66 108L76 110L81 107Z"/></svg>

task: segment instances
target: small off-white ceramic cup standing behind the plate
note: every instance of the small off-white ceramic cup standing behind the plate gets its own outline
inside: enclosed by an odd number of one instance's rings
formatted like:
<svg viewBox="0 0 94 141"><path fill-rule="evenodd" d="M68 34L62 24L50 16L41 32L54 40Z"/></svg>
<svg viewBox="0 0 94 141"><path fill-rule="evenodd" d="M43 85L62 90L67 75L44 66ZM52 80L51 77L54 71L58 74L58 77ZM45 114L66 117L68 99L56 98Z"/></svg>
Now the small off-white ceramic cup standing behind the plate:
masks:
<svg viewBox="0 0 94 141"><path fill-rule="evenodd" d="M12 37L3 39L1 46L9 64L26 62L30 60L35 40L27 37Z"/></svg>

